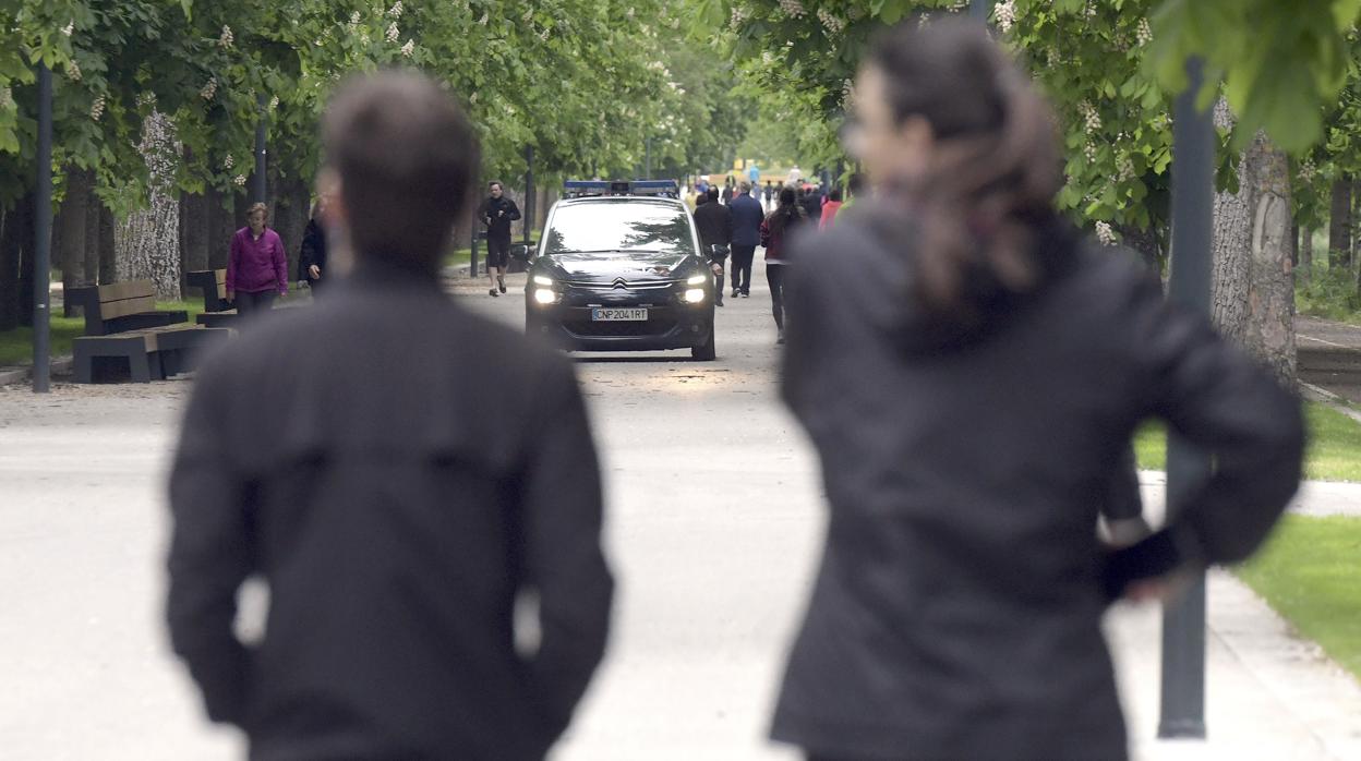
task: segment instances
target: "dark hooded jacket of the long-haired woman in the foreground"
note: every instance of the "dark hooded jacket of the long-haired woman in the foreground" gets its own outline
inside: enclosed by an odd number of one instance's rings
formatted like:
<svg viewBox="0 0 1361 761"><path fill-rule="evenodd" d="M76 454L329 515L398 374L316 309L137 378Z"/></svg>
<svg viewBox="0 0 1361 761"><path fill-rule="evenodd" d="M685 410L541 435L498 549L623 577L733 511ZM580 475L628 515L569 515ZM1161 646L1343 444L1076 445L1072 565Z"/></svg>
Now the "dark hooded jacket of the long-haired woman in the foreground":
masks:
<svg viewBox="0 0 1361 761"><path fill-rule="evenodd" d="M830 520L772 736L848 758L1124 758L1096 524L1130 489L1135 427L1161 418L1217 462L1149 545L1236 561L1297 489L1298 400L1132 256L1057 223L1047 283L979 287L968 324L916 306L912 240L844 225L795 244L783 395Z"/></svg>

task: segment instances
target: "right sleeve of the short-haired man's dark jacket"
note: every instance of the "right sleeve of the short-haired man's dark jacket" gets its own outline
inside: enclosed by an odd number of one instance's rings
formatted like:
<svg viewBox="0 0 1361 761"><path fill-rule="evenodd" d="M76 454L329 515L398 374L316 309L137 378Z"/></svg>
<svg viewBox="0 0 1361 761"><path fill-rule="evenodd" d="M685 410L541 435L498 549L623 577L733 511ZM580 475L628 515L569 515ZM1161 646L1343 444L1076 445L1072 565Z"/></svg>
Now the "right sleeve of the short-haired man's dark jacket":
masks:
<svg viewBox="0 0 1361 761"><path fill-rule="evenodd" d="M525 581L539 595L529 673L558 736L604 655L614 580L600 547L603 496L585 404L570 365L540 384L523 486Z"/></svg>

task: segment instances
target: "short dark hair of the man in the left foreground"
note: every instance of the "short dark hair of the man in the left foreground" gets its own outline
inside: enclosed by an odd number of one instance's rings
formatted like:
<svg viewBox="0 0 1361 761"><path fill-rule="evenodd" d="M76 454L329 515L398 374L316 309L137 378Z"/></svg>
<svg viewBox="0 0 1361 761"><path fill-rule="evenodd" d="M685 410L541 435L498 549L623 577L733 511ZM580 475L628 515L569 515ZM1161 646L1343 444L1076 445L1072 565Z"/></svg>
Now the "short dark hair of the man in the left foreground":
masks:
<svg viewBox="0 0 1361 761"><path fill-rule="evenodd" d="M463 110L415 72L359 76L331 99L323 142L355 255L433 276L480 163Z"/></svg>

